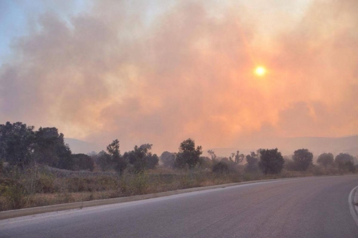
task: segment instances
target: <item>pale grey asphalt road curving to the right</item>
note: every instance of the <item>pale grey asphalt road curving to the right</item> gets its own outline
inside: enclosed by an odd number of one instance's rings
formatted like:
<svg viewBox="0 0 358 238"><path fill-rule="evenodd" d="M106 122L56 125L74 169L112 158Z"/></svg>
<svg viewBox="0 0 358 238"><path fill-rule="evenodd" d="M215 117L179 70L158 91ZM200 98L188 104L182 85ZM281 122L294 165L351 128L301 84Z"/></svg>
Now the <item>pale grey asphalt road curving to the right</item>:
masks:
<svg viewBox="0 0 358 238"><path fill-rule="evenodd" d="M358 237L358 175L190 192L0 221L0 237Z"/></svg>

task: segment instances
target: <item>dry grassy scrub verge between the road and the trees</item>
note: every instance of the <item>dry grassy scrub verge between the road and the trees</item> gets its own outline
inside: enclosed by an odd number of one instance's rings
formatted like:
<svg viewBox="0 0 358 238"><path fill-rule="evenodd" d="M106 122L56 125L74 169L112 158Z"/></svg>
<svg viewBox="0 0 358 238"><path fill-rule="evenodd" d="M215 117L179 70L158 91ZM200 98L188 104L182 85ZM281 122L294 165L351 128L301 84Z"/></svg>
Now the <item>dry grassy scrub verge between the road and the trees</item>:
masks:
<svg viewBox="0 0 358 238"><path fill-rule="evenodd" d="M71 172L49 168L10 171L0 177L0 211L47 206L79 201L109 199L203 187L233 182L276 178L334 175L345 171L335 168L310 168L308 171L283 170L277 175L237 171L214 173L208 170L171 170L158 167L140 174L115 172Z"/></svg>

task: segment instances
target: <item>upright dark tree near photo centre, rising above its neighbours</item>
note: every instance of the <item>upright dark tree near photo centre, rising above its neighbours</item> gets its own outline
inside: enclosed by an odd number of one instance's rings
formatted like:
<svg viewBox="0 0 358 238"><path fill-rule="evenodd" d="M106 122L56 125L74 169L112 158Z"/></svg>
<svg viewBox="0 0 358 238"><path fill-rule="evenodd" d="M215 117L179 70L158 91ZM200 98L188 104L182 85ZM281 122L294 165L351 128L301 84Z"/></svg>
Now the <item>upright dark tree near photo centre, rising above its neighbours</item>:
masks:
<svg viewBox="0 0 358 238"><path fill-rule="evenodd" d="M189 138L180 143L179 152L175 158L175 165L179 168L184 168L188 165L189 169L192 170L199 162L202 153L202 147L197 146L195 148L194 140Z"/></svg>

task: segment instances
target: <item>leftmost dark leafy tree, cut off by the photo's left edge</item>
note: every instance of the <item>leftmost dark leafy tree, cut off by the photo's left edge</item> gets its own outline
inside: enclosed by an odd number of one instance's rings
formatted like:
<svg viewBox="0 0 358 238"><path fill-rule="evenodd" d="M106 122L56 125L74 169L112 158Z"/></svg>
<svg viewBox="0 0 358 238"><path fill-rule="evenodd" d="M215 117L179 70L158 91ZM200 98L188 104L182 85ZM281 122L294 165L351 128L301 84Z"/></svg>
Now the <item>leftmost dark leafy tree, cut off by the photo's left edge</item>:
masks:
<svg viewBox="0 0 358 238"><path fill-rule="evenodd" d="M0 160L24 168L32 161L34 127L21 122L0 125Z"/></svg>

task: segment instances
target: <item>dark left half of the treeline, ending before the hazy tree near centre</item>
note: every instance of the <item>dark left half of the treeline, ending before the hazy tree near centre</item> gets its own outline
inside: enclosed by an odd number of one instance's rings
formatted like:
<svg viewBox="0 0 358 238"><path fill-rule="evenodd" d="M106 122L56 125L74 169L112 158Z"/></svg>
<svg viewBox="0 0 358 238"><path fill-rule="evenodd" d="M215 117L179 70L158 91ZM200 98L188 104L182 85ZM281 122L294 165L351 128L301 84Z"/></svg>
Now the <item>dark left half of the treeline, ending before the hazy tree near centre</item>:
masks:
<svg viewBox="0 0 358 238"><path fill-rule="evenodd" d="M95 162L103 171L115 169L119 173L128 169L135 173L158 165L159 158L150 152L152 145L135 146L134 150L120 154L119 142L114 140L107 146L107 152L98 154L73 154L64 135L55 127L40 127L16 122L0 124L0 168L3 162L10 167L24 169L33 164L47 165L66 170L90 170Z"/></svg>

